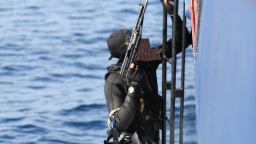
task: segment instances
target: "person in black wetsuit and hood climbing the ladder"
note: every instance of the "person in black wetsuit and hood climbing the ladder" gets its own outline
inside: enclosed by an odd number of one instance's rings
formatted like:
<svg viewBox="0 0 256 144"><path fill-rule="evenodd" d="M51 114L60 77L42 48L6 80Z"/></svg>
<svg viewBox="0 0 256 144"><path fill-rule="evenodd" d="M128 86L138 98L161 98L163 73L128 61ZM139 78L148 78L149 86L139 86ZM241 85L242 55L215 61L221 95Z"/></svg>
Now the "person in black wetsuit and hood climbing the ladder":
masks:
<svg viewBox="0 0 256 144"><path fill-rule="evenodd" d="M164 4L171 15L173 6ZM172 15L171 15L172 16ZM113 136L114 144L159 143L159 129L161 128L161 97L158 95L156 69L161 63L158 61L139 61L130 68L128 78L119 74L126 52L123 43L129 40L130 31L120 29L113 32L108 39L111 58L118 58L115 65L108 67L105 75L104 92L109 111L109 136ZM186 47L192 38L186 29ZM177 25L177 53L182 51L182 20L178 17ZM171 39L167 41L167 57L171 57ZM158 49L161 55L162 45ZM111 59L109 58L109 59ZM110 137L109 137L110 138ZM109 139L108 139L109 140ZM108 144L108 140L104 143Z"/></svg>

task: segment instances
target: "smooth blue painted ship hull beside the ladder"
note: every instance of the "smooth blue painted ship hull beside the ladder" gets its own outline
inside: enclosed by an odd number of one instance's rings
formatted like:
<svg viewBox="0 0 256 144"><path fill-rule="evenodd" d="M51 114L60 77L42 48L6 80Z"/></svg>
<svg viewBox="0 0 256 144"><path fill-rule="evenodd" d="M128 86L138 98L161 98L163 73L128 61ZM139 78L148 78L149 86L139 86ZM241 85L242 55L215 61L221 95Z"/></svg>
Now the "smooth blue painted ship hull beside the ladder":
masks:
<svg viewBox="0 0 256 144"><path fill-rule="evenodd" d="M198 144L256 143L256 2L202 3L195 58Z"/></svg>

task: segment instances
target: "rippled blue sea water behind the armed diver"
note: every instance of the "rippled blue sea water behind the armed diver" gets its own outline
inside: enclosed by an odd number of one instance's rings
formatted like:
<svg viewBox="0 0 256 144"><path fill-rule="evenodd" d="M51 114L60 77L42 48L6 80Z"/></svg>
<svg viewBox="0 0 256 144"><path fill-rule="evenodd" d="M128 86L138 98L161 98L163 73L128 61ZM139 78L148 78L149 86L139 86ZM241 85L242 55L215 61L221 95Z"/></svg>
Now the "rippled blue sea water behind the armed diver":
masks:
<svg viewBox="0 0 256 144"><path fill-rule="evenodd" d="M117 29L132 29L139 2L143 1L0 1L1 144L100 144L106 139L104 74L117 61L108 61L106 41ZM161 3L150 0L143 37L156 46L162 43L161 34ZM179 54L177 85L180 58ZM170 79L170 67L168 72ZM191 47L186 50L185 81L184 144L195 144ZM161 94L161 66L158 83ZM176 122L178 117L177 108Z"/></svg>

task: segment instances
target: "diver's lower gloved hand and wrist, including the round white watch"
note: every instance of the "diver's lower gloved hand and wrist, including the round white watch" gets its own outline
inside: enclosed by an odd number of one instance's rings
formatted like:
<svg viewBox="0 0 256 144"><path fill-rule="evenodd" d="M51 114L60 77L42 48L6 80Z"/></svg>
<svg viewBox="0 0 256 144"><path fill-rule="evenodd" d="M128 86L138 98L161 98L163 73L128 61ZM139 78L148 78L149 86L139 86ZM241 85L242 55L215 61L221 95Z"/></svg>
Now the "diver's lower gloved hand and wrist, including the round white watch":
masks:
<svg viewBox="0 0 256 144"><path fill-rule="evenodd" d="M128 92L130 92L131 94L138 93L143 77L143 70L139 69L138 66L135 67L134 63L132 63L130 65L128 75L128 82L130 86L128 88Z"/></svg>

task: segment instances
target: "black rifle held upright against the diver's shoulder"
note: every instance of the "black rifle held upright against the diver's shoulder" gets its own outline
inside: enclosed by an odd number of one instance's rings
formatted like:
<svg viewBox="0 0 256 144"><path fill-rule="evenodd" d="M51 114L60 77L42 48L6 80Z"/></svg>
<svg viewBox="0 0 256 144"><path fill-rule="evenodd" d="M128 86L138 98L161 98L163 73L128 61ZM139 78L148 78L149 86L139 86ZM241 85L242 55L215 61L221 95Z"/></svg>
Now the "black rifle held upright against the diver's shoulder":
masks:
<svg viewBox="0 0 256 144"><path fill-rule="evenodd" d="M127 44L128 47L126 49L124 61L122 63L122 68L120 71L120 74L125 77L128 77L128 69L130 65L136 61L137 48L139 47L139 43L141 41L141 35L142 35L141 28L143 25L143 18L144 18L144 13L145 13L147 4L148 4L148 0L146 0L145 3L139 4L139 14L134 24L130 41Z"/></svg>

